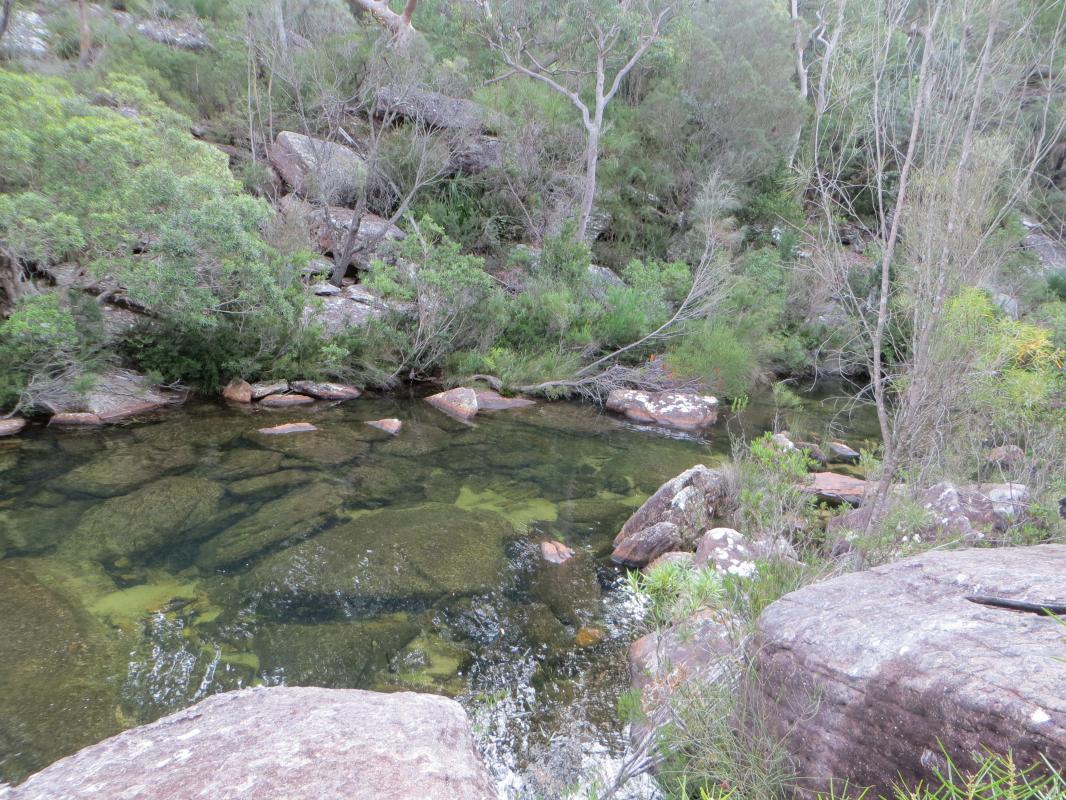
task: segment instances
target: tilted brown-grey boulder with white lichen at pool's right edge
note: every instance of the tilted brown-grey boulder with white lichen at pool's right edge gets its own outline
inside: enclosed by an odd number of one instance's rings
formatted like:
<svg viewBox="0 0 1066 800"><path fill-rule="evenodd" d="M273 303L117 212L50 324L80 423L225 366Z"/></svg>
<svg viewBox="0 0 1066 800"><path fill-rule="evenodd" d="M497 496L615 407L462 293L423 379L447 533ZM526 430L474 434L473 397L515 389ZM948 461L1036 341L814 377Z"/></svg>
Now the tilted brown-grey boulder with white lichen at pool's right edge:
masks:
<svg viewBox="0 0 1066 800"><path fill-rule="evenodd" d="M626 521L614 538L612 558L628 566L644 566L668 550L695 546L727 491L725 477L715 469L697 464L684 470L661 485ZM655 527L662 523L671 527ZM639 562L642 557L647 560Z"/></svg>

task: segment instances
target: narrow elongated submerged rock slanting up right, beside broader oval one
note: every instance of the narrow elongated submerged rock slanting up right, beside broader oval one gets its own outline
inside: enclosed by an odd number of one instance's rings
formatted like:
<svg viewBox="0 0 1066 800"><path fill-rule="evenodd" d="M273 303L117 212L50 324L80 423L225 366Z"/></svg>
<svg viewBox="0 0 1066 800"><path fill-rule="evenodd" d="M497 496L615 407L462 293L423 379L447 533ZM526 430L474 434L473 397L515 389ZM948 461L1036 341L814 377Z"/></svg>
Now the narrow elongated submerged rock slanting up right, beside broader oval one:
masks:
<svg viewBox="0 0 1066 800"><path fill-rule="evenodd" d="M246 561L287 539L305 538L317 531L344 500L332 483L312 483L263 503L200 546L196 563L217 570Z"/></svg>

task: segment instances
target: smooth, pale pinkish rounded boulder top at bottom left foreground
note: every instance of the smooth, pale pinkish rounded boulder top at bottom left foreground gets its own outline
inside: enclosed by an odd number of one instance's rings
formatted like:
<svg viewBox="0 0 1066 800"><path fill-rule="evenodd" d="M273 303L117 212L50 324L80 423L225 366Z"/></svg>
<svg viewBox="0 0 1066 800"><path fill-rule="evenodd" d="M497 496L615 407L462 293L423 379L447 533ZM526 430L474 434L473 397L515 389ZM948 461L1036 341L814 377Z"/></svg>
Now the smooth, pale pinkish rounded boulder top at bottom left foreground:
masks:
<svg viewBox="0 0 1066 800"><path fill-rule="evenodd" d="M215 694L56 762L5 800L495 800L458 703L273 687Z"/></svg>

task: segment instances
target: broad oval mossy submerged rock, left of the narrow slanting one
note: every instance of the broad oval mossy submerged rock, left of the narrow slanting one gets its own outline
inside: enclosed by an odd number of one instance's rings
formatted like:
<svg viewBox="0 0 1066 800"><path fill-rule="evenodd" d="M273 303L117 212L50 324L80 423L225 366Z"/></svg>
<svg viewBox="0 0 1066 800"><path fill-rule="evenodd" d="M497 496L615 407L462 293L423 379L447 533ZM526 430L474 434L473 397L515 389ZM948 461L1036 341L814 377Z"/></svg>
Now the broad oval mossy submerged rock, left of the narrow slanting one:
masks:
<svg viewBox="0 0 1066 800"><path fill-rule="evenodd" d="M161 478L86 511L62 549L112 562L194 540L214 517L222 486L205 478Z"/></svg>

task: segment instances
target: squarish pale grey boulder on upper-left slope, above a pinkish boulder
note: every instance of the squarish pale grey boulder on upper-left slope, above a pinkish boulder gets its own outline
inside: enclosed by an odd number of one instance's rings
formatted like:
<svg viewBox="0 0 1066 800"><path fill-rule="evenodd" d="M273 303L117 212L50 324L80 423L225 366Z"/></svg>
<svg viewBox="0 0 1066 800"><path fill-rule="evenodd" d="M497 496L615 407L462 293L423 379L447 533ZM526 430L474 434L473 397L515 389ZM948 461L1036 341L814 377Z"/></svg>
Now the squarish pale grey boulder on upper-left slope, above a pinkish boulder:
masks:
<svg viewBox="0 0 1066 800"><path fill-rule="evenodd" d="M284 130L266 153L297 194L329 205L354 201L367 182L367 161L351 147Z"/></svg>

